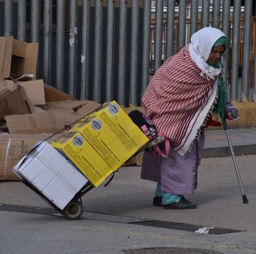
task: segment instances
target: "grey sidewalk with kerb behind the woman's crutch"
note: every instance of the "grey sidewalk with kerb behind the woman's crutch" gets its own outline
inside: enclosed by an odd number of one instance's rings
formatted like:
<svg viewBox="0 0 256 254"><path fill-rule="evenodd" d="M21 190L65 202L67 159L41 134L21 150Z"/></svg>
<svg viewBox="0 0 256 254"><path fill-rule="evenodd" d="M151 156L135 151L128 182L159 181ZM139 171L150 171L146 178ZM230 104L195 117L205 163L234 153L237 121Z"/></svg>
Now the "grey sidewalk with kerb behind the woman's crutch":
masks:
<svg viewBox="0 0 256 254"><path fill-rule="evenodd" d="M234 153L256 154L256 128L228 130ZM226 133L223 129L206 130L203 158L231 156Z"/></svg>

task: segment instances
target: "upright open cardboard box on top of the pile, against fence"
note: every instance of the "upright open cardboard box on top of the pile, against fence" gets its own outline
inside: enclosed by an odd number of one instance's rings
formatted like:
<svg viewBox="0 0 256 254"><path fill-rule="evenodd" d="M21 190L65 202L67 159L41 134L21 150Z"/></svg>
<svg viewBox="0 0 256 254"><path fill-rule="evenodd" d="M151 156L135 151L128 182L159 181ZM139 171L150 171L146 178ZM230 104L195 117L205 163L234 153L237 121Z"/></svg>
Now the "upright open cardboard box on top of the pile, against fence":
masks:
<svg viewBox="0 0 256 254"><path fill-rule="evenodd" d="M38 43L26 43L10 37L0 37L0 77L17 78L33 75L36 78Z"/></svg>

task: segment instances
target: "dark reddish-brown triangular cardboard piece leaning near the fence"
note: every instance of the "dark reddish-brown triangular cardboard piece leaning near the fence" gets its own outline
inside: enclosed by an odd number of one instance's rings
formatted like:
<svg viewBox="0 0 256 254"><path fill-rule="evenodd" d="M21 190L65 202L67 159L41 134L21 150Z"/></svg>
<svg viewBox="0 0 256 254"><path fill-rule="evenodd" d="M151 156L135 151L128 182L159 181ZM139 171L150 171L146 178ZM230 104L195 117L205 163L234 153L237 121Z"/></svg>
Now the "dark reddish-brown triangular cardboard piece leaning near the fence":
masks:
<svg viewBox="0 0 256 254"><path fill-rule="evenodd" d="M53 86L49 86L49 84L45 85L45 100L46 102L58 102L61 100L77 100L74 97L62 92L61 90L54 88Z"/></svg>

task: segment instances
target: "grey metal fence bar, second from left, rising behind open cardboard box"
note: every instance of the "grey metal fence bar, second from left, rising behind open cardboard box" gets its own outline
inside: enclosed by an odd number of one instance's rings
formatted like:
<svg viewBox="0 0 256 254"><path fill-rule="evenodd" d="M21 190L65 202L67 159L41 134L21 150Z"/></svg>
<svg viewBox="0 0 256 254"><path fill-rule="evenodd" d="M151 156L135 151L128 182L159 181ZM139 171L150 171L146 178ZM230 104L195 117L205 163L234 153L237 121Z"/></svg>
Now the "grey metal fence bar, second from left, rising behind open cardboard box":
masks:
<svg viewBox="0 0 256 254"><path fill-rule="evenodd" d="M18 1L18 39L26 41L26 0Z"/></svg>

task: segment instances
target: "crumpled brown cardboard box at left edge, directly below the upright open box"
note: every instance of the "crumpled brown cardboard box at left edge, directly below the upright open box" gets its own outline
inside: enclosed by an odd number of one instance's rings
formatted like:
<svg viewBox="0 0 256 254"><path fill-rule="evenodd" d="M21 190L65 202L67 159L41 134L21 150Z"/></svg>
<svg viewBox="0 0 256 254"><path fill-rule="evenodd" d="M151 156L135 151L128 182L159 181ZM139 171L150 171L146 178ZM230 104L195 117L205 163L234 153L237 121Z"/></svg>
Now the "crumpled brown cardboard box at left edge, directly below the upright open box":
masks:
<svg viewBox="0 0 256 254"><path fill-rule="evenodd" d="M30 113L25 93L12 80L0 78L0 120L6 115Z"/></svg>

